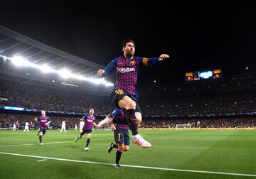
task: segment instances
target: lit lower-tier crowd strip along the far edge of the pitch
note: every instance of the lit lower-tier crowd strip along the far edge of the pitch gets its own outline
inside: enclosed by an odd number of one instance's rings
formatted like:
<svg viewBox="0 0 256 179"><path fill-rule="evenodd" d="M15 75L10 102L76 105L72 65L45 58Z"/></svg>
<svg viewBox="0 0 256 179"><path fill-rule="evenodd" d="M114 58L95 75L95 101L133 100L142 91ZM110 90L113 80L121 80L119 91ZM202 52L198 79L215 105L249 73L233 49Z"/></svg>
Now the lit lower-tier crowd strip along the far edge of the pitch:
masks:
<svg viewBox="0 0 256 179"><path fill-rule="evenodd" d="M23 129L25 123L30 124L31 129L38 129L38 124L34 121L35 115L29 114L0 114L0 128L11 129L14 122L18 121L20 128ZM60 129L61 122L65 121L67 129L79 128L80 117L51 116L50 126L52 129ZM100 119L95 120L98 123ZM199 124L198 124L198 121ZM256 117L239 117L225 119L145 119L139 124L141 128L175 128L176 124L191 124L191 128L255 128Z"/></svg>

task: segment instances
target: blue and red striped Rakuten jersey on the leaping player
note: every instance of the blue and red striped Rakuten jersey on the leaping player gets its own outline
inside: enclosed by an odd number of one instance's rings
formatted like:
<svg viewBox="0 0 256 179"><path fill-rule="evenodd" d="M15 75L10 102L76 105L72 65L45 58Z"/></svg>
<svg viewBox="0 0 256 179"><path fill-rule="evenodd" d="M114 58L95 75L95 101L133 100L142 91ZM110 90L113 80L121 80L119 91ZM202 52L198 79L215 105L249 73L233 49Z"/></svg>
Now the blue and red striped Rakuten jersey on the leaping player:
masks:
<svg viewBox="0 0 256 179"><path fill-rule="evenodd" d="M137 79L139 77L139 67L141 65L149 66L156 63L159 60L157 58L143 58L134 57L132 59L125 59L124 56L119 56L119 58L114 58L107 67L105 67L105 72L103 77L107 76L113 70L116 70L116 82L114 84L115 89L122 89L124 92L129 94L135 94Z"/></svg>

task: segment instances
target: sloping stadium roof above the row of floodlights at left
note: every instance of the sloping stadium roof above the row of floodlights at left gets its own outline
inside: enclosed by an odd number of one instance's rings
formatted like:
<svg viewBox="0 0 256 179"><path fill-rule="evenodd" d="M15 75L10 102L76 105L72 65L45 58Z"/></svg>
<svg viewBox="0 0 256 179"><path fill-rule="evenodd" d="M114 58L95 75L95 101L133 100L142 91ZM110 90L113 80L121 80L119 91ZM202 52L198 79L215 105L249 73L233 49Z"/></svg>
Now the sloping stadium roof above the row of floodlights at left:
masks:
<svg viewBox="0 0 256 179"><path fill-rule="evenodd" d="M66 69L74 75L96 77L102 65L78 58L0 26L0 55L13 58L18 55L35 65L48 65L53 70ZM103 67L104 68L104 67Z"/></svg>

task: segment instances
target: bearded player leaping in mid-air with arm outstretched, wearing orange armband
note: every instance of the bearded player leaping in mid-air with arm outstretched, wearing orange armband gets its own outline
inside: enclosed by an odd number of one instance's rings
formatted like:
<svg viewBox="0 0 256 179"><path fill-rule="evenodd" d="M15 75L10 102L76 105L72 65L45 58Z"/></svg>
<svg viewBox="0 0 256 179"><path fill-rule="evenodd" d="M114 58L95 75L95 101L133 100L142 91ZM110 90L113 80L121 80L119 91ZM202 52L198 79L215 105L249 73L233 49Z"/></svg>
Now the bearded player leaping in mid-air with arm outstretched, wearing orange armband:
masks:
<svg viewBox="0 0 256 179"><path fill-rule="evenodd" d="M141 65L149 66L160 60L169 58L169 55L162 54L156 58L134 57L135 46L133 40L124 40L122 51L124 55L114 58L105 70L99 69L97 75L105 77L113 70L116 70L116 82L111 99L115 106L120 109L126 109L126 119L129 123L129 129L132 131L134 143L143 148L148 148L151 143L142 138L139 134L137 123L142 121L142 111L138 103L138 94L136 91L137 78ZM108 118L106 118L107 120Z"/></svg>

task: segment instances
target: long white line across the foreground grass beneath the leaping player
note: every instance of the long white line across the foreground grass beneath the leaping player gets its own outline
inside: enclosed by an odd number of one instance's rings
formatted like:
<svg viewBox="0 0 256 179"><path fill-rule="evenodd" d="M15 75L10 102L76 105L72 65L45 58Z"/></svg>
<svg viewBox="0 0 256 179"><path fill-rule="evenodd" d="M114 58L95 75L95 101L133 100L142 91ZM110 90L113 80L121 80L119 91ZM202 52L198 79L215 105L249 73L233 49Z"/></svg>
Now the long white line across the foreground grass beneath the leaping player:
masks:
<svg viewBox="0 0 256 179"><path fill-rule="evenodd" d="M99 165L105 165L105 166L114 166L114 164L112 163L78 161L78 160L70 160L65 158L53 158L53 157L44 157L44 156L30 156L30 155L18 154L18 153L0 152L0 154L11 155L11 156L24 156L24 157L31 157L31 158L44 158L44 159L50 159L50 160L56 160L56 161L71 161L71 162L78 162L78 163L90 163L90 164L99 164ZM147 167L147 166L129 166L129 165L122 165L122 166L130 167L130 168L171 170L171 171L180 171L180 172L189 172L189 173L208 173L208 174L216 174L216 175L235 175L235 176L256 177L256 174L245 174L245 173L226 173L226 172L214 172L214 171L203 171L203 170L183 170L183 169L176 169L176 168L159 168L159 167Z"/></svg>

